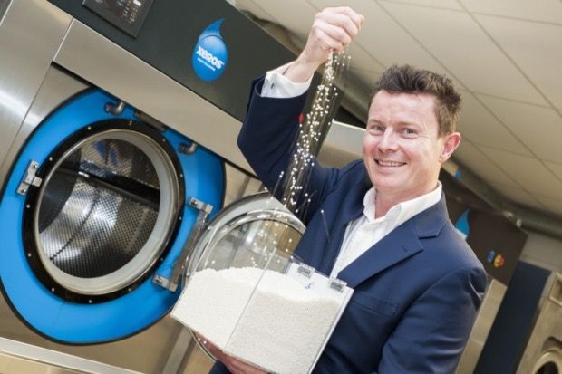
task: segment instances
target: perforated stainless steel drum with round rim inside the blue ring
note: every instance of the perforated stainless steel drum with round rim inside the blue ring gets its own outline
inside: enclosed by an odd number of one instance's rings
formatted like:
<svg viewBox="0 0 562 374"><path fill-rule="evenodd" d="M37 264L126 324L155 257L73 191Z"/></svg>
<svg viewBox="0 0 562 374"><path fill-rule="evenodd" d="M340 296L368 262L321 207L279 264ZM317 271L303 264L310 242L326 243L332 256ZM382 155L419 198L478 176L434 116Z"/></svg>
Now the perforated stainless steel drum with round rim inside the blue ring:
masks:
<svg viewBox="0 0 562 374"><path fill-rule="evenodd" d="M55 149L28 199L26 248L53 292L107 297L141 279L168 244L183 202L177 165L149 129L128 122Z"/></svg>

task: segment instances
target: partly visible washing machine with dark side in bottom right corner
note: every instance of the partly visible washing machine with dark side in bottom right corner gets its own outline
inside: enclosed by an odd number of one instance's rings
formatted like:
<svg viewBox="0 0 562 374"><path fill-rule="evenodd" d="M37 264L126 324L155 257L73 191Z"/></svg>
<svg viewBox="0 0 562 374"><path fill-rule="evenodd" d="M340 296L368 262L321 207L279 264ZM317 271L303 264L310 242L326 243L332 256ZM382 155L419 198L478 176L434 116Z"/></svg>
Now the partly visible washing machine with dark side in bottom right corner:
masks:
<svg viewBox="0 0 562 374"><path fill-rule="evenodd" d="M562 372L560 273L519 262L475 372Z"/></svg>

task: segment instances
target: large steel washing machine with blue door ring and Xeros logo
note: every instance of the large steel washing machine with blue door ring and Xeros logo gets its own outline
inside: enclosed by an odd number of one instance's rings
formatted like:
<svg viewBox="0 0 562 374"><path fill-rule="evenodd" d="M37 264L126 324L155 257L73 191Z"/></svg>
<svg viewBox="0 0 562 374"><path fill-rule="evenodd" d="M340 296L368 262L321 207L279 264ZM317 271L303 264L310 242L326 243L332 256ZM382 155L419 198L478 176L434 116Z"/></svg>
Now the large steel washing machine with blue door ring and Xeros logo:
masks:
<svg viewBox="0 0 562 374"><path fill-rule="evenodd" d="M189 239L259 189L237 132L290 53L219 0L0 0L0 46L0 371L180 372Z"/></svg>

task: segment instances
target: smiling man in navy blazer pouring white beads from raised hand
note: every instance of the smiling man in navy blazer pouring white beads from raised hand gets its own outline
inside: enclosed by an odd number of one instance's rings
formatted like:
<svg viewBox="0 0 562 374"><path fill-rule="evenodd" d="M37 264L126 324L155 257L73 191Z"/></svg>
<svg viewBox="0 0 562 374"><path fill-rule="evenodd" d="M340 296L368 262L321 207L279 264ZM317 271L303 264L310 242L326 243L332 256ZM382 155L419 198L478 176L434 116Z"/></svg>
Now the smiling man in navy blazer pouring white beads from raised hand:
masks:
<svg viewBox="0 0 562 374"><path fill-rule="evenodd" d="M254 83L238 145L267 187L289 163L313 73L361 24L363 16L348 7L325 9L296 61ZM482 265L447 216L438 181L460 143L459 108L450 80L393 66L375 87L363 161L310 167L312 200L296 253L354 288L315 373L454 371L486 286ZM212 373L260 372L211 350L222 362Z"/></svg>

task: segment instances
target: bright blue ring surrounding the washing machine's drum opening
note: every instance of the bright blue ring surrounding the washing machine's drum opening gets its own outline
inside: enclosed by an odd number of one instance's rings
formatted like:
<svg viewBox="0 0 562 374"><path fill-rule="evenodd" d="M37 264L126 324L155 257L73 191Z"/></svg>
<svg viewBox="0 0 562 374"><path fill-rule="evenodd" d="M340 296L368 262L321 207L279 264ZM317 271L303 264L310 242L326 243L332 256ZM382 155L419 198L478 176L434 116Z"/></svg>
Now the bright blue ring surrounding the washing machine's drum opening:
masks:
<svg viewBox="0 0 562 374"><path fill-rule="evenodd" d="M117 117L105 112L103 108L108 101L115 99L99 90L88 91L47 118L22 150L0 202L0 277L5 295L19 316L34 330L66 343L119 340L142 331L170 311L180 292L172 293L161 288L152 283L150 276L132 292L109 302L91 305L67 302L45 289L25 258L21 232L25 197L15 191L28 163L34 159L42 164L59 142L93 122L115 118L134 120L131 107ZM190 142L171 129L166 129L163 136L174 149L178 149L180 143ZM178 157L186 197L197 197L211 204L213 214L216 213L225 188L222 160L202 147L191 155L179 154ZM184 206L178 234L156 273L170 275L197 214L193 208Z"/></svg>

